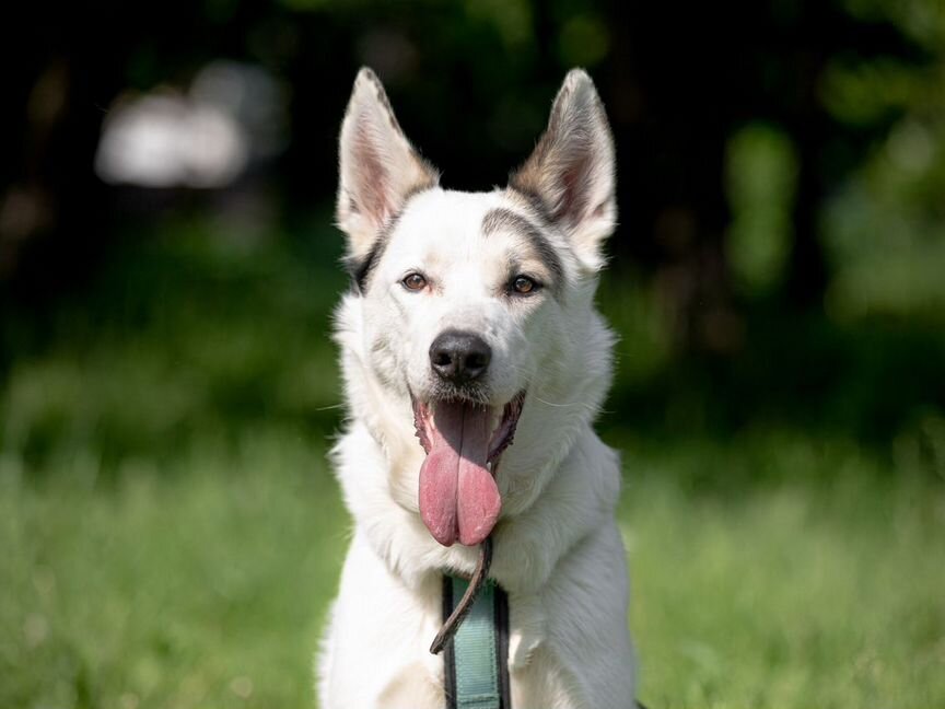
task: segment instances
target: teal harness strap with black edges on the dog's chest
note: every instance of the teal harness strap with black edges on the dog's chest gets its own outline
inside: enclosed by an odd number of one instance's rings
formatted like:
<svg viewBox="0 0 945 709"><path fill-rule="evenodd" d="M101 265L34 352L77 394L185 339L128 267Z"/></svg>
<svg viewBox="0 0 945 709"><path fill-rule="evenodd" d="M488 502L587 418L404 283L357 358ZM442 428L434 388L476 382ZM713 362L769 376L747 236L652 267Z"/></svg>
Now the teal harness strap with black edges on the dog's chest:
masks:
<svg viewBox="0 0 945 709"><path fill-rule="evenodd" d="M468 582L443 578L443 617ZM509 602L487 581L444 652L446 709L512 709L509 698Z"/></svg>

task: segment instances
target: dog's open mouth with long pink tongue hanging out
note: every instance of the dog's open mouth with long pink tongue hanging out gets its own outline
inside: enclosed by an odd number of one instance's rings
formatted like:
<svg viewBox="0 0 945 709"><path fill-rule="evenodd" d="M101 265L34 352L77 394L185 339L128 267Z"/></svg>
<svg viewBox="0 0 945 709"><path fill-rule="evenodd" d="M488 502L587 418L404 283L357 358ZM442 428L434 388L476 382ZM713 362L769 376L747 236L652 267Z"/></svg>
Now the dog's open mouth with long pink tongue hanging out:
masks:
<svg viewBox="0 0 945 709"><path fill-rule="evenodd" d="M512 444L525 392L502 408L466 399L412 397L413 426L427 458L420 467L420 516L443 546L476 546L492 532L502 508L495 467ZM494 427L494 428L493 428Z"/></svg>

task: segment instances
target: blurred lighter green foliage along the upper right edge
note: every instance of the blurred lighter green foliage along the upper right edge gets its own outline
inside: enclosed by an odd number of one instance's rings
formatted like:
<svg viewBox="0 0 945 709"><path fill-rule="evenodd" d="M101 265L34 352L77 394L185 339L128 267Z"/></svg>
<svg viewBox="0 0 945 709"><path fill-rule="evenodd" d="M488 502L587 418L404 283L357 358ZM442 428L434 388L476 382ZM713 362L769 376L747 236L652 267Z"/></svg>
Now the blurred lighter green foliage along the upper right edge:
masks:
<svg viewBox="0 0 945 709"><path fill-rule="evenodd" d="M826 248L833 280L827 309L840 321L914 319L945 313L945 12L928 0L855 0L850 10L891 21L922 61L838 57L824 104L848 129L888 123L851 181L828 205Z"/></svg>

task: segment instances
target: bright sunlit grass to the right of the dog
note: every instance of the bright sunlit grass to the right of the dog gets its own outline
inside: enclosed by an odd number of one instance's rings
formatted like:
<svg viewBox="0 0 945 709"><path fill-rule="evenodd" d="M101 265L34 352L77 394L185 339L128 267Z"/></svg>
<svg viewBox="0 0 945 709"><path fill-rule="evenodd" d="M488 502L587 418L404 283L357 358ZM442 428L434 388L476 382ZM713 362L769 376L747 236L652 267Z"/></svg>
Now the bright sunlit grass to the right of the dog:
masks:
<svg viewBox="0 0 945 709"><path fill-rule="evenodd" d="M660 473L626 515L648 706L945 702L941 485L702 496Z"/></svg>

